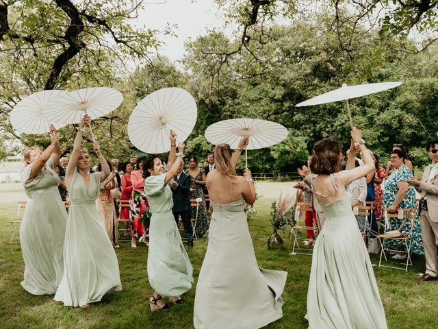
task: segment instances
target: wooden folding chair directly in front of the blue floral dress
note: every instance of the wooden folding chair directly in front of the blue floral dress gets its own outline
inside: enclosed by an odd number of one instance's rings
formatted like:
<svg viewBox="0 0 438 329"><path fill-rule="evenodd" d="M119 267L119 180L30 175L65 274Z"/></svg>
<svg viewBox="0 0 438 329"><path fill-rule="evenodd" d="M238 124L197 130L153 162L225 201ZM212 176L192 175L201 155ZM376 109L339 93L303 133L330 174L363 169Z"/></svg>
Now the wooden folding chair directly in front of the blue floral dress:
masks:
<svg viewBox="0 0 438 329"><path fill-rule="evenodd" d="M411 229L408 232L403 232L402 236L392 236L388 234L391 225L390 225L390 219L391 218L398 218L398 212L402 210L403 211L403 217L402 224L400 225L400 228L398 230L402 232L402 228L407 223L408 220L411 221ZM415 225L415 218L416 218L416 212L417 210L415 208L396 208L396 213L389 213L387 208L383 208L383 213L385 214L385 234L379 234L377 237L381 241L382 250L381 250L381 258L378 261L378 267L390 267L391 269L404 269L404 271L408 271L408 266L412 265L411 260L411 243L412 243L412 230ZM384 247L385 240L396 240L396 241L404 241L404 245L406 246L406 251L400 251L400 250L394 250ZM402 265L406 265L403 267L396 267L396 266L389 266L389 265L382 265L382 256L385 257L385 261L387 261L386 252L396 252L396 253L406 253L406 264L402 262Z"/></svg>

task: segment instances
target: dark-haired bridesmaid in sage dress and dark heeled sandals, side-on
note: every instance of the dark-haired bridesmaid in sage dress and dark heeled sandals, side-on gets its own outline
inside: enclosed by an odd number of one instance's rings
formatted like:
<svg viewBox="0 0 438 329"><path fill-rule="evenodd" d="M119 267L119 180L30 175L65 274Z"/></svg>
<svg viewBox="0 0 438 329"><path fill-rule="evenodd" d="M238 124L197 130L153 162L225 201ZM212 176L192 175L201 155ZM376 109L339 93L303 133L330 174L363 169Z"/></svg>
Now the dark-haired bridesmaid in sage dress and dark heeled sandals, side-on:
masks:
<svg viewBox="0 0 438 329"><path fill-rule="evenodd" d="M189 256L185 252L179 235L175 217L173 217L173 178L181 166L184 144L179 143L177 135L170 131L170 152L168 168L158 156L149 156L143 163L144 193L151 205L151 225L149 226L148 278L155 290L149 306L151 311L166 310L170 307L162 299L168 298L172 304L183 306L180 297L192 288L193 268Z"/></svg>

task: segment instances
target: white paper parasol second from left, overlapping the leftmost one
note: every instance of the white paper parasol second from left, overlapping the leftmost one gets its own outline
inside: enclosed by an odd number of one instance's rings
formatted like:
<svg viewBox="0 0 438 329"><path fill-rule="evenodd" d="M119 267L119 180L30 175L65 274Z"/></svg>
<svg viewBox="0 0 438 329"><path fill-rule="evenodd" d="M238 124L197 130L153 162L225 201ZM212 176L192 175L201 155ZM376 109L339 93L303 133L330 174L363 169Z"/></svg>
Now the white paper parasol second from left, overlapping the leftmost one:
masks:
<svg viewBox="0 0 438 329"><path fill-rule="evenodd" d="M50 101L42 114L50 121L62 123L80 123L84 114L91 119L103 117L118 108L123 101L120 91L107 87L83 88L65 93ZM94 141L94 134L91 130Z"/></svg>

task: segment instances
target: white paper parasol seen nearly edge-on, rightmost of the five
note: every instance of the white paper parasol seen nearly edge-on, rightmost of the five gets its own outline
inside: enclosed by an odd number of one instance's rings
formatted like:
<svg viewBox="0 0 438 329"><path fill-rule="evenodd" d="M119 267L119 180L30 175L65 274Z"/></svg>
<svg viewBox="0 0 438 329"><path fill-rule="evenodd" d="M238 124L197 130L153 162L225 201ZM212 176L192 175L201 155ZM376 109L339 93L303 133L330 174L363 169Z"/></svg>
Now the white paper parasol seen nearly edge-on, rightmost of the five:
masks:
<svg viewBox="0 0 438 329"><path fill-rule="evenodd" d="M341 88L329 91L329 93L324 93L311 99L307 99L307 101L302 101L301 103L296 104L296 106L310 106L331 103L333 101L345 101L352 129L353 121L351 118L348 99L378 93L383 90L398 87L400 84L402 84L402 82L380 82L377 84L357 84L355 86L347 86L346 84L343 84Z"/></svg>

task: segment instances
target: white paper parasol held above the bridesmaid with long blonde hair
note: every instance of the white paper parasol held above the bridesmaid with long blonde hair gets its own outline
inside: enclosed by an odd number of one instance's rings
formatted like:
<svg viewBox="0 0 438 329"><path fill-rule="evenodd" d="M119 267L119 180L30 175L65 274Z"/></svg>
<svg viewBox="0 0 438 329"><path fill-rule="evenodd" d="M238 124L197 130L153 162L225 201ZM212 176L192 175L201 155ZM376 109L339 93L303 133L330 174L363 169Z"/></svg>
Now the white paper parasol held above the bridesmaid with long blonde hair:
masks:
<svg viewBox="0 0 438 329"><path fill-rule="evenodd" d="M205 130L205 138L211 144L227 143L237 148L242 137L249 137L245 149L245 166L248 167L248 149L263 149L283 141L289 132L279 123L260 119L229 119L216 122Z"/></svg>

